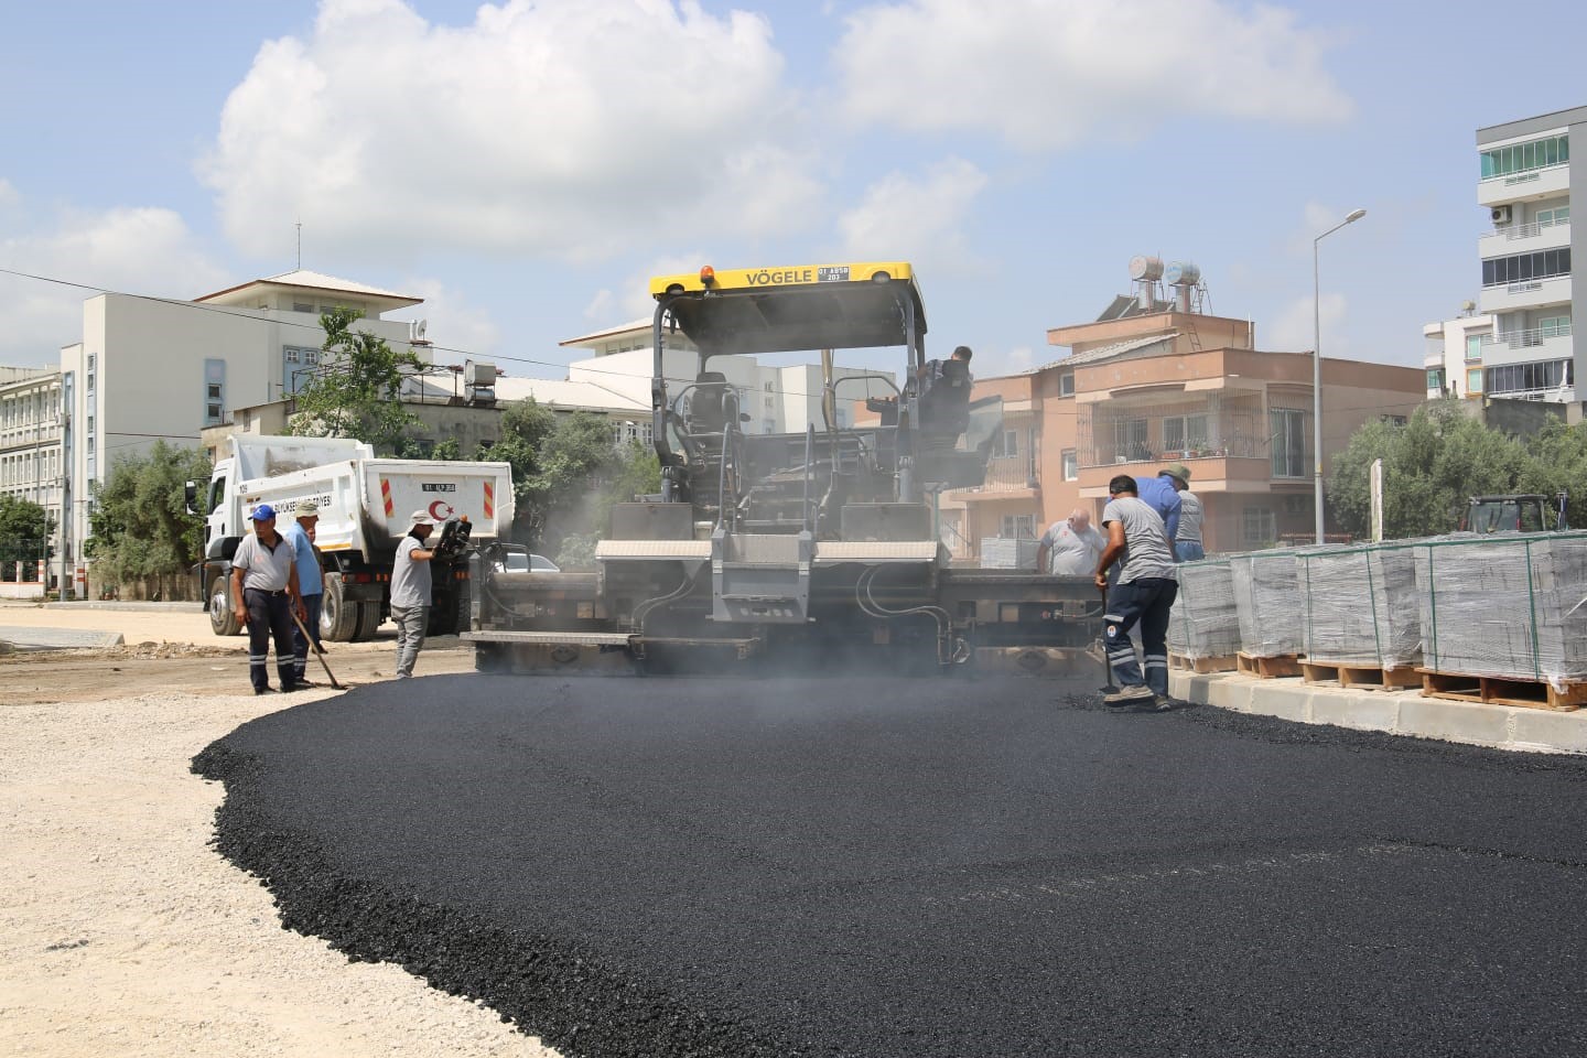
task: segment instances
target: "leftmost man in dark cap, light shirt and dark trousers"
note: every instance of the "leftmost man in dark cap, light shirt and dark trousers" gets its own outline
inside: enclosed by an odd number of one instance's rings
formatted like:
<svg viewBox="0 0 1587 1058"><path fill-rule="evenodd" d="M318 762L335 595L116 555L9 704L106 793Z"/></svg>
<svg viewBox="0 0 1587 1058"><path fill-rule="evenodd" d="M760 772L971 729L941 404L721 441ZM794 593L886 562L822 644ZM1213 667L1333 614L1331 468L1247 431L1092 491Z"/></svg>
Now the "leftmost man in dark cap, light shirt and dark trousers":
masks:
<svg viewBox="0 0 1587 1058"><path fill-rule="evenodd" d="M292 546L276 531L276 512L260 503L249 516L254 531L232 557L232 598L236 620L248 627L248 679L256 695L268 695L270 641L276 641L281 690L297 690L292 665L292 608L303 615Z"/></svg>

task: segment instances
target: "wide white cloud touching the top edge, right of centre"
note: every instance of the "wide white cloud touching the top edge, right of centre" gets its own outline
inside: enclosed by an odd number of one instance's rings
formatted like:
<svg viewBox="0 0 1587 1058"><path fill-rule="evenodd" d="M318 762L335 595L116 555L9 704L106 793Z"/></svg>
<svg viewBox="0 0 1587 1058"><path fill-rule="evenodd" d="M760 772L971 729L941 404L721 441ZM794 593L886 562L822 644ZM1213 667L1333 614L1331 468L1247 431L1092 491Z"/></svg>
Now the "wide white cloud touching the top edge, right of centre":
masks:
<svg viewBox="0 0 1587 1058"><path fill-rule="evenodd" d="M851 14L835 62L857 121L1057 151L1184 116L1343 121L1327 44L1222 0L905 0Z"/></svg>

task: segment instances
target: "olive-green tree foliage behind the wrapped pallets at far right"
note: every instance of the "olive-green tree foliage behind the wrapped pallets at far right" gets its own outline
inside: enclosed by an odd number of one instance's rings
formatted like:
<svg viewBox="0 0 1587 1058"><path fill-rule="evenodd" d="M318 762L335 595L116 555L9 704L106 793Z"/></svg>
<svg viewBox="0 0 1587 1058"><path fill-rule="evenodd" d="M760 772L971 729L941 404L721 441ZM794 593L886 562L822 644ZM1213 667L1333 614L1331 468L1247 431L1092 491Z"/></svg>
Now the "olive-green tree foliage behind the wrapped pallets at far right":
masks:
<svg viewBox="0 0 1587 1058"><path fill-rule="evenodd" d="M1468 417L1454 400L1425 404L1403 427L1371 422L1355 431L1328 476L1328 509L1339 528L1371 535L1371 465L1384 462L1384 538L1458 528L1479 495L1568 490L1570 520L1587 522L1587 427L1550 422L1527 441Z"/></svg>

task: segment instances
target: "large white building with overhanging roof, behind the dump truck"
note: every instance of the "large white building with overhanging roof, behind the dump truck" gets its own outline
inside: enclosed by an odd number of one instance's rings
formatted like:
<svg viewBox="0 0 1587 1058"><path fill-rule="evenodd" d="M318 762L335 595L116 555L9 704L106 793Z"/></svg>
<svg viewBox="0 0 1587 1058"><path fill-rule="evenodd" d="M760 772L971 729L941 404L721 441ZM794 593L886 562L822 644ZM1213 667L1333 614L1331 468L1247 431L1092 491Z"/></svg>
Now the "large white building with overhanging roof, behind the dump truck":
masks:
<svg viewBox="0 0 1587 1058"><path fill-rule="evenodd" d="M205 427L232 408L298 390L319 365L333 308L363 314L357 328L430 362L406 320L382 312L421 305L390 290L297 270L217 290L192 301L102 293L83 303L83 341L60 351L65 408L65 503L71 517L63 557L81 566L94 487L119 457L156 441L197 446Z"/></svg>

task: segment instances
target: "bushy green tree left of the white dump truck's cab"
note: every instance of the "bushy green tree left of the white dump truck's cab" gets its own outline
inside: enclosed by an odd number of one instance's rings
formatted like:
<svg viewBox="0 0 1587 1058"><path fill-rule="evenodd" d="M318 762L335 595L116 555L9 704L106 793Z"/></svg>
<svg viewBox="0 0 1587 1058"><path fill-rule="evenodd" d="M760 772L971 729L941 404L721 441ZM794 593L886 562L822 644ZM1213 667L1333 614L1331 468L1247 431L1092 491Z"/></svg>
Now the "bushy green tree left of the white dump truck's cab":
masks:
<svg viewBox="0 0 1587 1058"><path fill-rule="evenodd" d="M187 514L184 485L209 477L200 449L156 441L148 455L122 457L94 492L84 552L111 584L146 584L170 598L202 557L203 516ZM152 582L152 584L151 584Z"/></svg>

